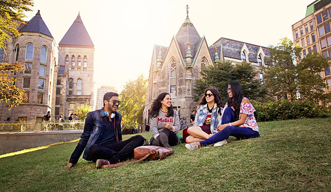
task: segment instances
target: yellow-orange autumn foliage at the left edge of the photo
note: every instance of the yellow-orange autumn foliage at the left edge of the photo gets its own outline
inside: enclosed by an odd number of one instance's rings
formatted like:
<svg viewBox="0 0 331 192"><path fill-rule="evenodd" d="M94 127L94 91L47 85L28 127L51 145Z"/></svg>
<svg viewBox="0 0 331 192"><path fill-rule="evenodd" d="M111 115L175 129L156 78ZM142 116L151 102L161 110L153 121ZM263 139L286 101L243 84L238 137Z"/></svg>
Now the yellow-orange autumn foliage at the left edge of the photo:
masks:
<svg viewBox="0 0 331 192"><path fill-rule="evenodd" d="M7 48L6 43L11 35L21 35L16 27L25 23L23 21L24 11L31 11L29 6L33 6L31 0L0 0L0 49ZM0 103L2 101L9 103L9 110L27 100L25 91L17 88L14 85L16 79L10 76L19 69L24 70L24 66L20 63L0 63Z"/></svg>

